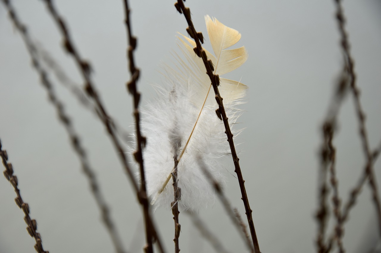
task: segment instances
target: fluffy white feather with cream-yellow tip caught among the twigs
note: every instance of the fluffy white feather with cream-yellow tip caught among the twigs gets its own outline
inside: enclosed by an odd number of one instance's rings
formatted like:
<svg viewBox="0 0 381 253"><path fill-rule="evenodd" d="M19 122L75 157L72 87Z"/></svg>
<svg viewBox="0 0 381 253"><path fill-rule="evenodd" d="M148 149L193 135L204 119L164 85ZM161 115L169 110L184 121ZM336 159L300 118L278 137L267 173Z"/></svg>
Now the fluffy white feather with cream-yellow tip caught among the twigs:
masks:
<svg viewBox="0 0 381 253"><path fill-rule="evenodd" d="M227 49L240 40L240 33L209 16L205 21L214 55L206 52L215 74L221 76L241 66L248 57L245 47ZM215 114L217 104L210 79L202 59L193 51L195 42L184 35L177 38L182 57L174 52L176 67L163 66L168 86L157 87L156 100L142 111L142 132L147 137L143 152L147 193L153 198L151 204L170 207L173 187L168 182L177 155L179 207L197 210L215 198L197 160L202 157L214 179L223 184L221 157L230 149L223 122ZM240 82L220 77L219 91L230 124L239 116L235 106L242 103L246 89Z"/></svg>

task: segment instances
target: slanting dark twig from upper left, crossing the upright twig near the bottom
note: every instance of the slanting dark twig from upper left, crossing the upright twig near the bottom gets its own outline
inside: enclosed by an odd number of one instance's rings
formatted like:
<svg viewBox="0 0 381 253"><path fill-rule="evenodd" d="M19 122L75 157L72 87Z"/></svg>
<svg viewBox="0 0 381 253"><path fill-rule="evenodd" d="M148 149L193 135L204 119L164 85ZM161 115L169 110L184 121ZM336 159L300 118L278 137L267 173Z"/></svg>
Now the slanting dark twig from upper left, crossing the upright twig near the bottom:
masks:
<svg viewBox="0 0 381 253"><path fill-rule="evenodd" d="M137 194L139 203L143 207L144 216L147 219L146 220L147 221L146 226L148 226L150 228L150 229L148 229L149 230L148 232L152 233L151 236L147 237L148 238L147 240L152 241L152 235L153 235L158 242L159 250L161 252L164 252L164 250L162 248L162 244L161 244L160 239L158 238L158 235L156 232L157 230L155 229L154 223L152 221L152 217L150 216L150 213L146 211L147 210L147 207L146 207L147 196L144 195L144 191L139 190L138 183L136 182L136 180L134 178L134 174L133 174L130 166L128 165L126 152L123 149L122 145L120 145L119 139L117 138L115 130L112 127L112 122L110 121L111 117L107 113L106 108L104 107L103 103L101 102L101 99L100 99L100 97L99 97L99 95L98 95L98 93L97 93L97 91L93 85L93 82L91 81L90 64L80 57L79 52L77 51L76 47L74 46L74 43L72 42L72 40L70 38L69 30L68 30L65 22L63 21L62 17L59 16L58 12L54 8L52 1L51 0L44 0L44 2L46 4L46 7L48 8L48 12L51 14L52 18L54 19L54 21L56 22L56 24L58 26L59 31L62 34L64 49L66 50L67 53L69 53L74 58L75 62L77 63L77 67L80 70L82 77L85 81L84 89L86 91L86 94L91 99L94 100L94 103L96 104L96 106L100 112L99 113L99 119L106 126L107 132L109 133L110 138L112 139L112 143L114 144L117 155L118 155L120 161L122 162L123 168L124 168L126 174L128 175L128 179L130 180L135 193ZM142 140L140 140L140 141L142 141ZM139 142L139 144L140 144L140 142ZM142 174L144 175L144 173L142 173ZM147 245L147 246L150 247L150 248L148 248L148 250L151 250L148 252L152 252L152 243Z"/></svg>

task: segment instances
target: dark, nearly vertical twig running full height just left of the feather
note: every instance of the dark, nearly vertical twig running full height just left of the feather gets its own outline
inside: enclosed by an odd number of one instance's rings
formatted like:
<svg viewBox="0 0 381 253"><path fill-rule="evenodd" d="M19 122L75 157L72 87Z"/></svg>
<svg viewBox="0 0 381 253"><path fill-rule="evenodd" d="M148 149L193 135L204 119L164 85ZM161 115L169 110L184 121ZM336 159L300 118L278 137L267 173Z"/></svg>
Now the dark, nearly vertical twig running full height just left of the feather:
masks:
<svg viewBox="0 0 381 253"><path fill-rule="evenodd" d="M154 237L154 232L152 229L152 224L150 222L149 218L149 202L147 198L147 189L146 189L146 177L144 174L144 164L143 164L143 155L142 155L142 145L144 146L146 144L146 138L141 135L140 131L140 115L139 115L139 101L140 101L140 93L137 90L136 87L136 81L139 79L139 69L136 68L134 63L134 55L133 52L136 49L136 37L132 35L131 31L131 22L130 22L130 8L128 8L128 1L124 0L124 10L125 10L125 25L128 35L128 50L127 50L127 56L128 56L128 62L129 62L129 70L131 74L131 80L127 83L127 89L130 92L130 94L133 96L133 106L134 106L134 118L135 118L135 126L136 126L136 146L137 150L134 152L134 158L136 162L139 164L140 169L140 179L141 179L141 185L139 190L140 195L140 201L143 206L143 212L144 212L144 221L145 221L145 228L146 228L146 241L147 245L145 247L145 250L147 253L152 253L152 241Z"/></svg>

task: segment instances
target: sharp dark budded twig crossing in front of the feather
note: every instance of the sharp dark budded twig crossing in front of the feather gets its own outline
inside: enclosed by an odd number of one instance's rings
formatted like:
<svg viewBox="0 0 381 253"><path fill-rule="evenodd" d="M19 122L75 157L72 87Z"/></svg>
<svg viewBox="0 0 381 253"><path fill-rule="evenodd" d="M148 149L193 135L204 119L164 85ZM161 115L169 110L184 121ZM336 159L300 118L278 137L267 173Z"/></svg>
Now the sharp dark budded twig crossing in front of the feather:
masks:
<svg viewBox="0 0 381 253"><path fill-rule="evenodd" d="M259 250L259 244L258 244L258 239L256 236L255 228L254 228L254 222L253 222L253 216L252 212L253 210L250 209L250 204L249 204L249 199L247 197L246 189L245 189L245 180L243 180L242 176L242 171L239 165L239 158L237 156L237 152L235 150L234 142L233 142L233 134L230 130L229 122L227 121L228 118L226 116L225 108L223 105L223 98L221 98L221 95L219 94L218 91L218 86L219 86L219 76L213 74L213 64L211 63L211 60L208 60L206 52L203 50L201 43L203 43L203 36L202 33L198 33L193 25L192 19L191 19L191 10L188 7L185 7L184 2L182 0L178 0L174 6L178 10L179 13L184 14L185 19L188 23L187 27L187 32L189 36L191 36L196 43L196 47L193 49L195 54L202 58L205 68L207 70L207 74L210 78L211 84L213 86L213 90L216 95L216 101L218 104L218 109L216 110L216 114L219 119L223 120L224 125L225 125L225 133L227 136L227 141L229 142L231 153L232 153L232 158L234 162L234 167L235 167L235 173L237 173L238 177L238 182L240 185L240 190L242 194L242 201L243 205L245 206L246 210L246 215L247 215L247 220L250 228L250 233L251 233L251 239L253 240L253 245L255 249L255 253L260 253Z"/></svg>

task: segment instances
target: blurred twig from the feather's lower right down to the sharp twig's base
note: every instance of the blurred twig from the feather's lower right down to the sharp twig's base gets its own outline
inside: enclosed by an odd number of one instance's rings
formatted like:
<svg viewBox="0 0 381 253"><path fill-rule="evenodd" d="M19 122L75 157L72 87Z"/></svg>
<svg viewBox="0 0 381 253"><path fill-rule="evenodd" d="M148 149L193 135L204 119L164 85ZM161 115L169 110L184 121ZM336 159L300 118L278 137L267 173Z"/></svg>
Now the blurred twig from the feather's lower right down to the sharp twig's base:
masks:
<svg viewBox="0 0 381 253"><path fill-rule="evenodd" d="M224 207L227 215L229 216L229 218L233 222L235 228L237 228L237 231L240 234L240 236L242 237L243 241L246 243L247 248L251 252L254 252L254 247L251 244L249 235L247 234L247 231L246 231L246 226L242 222L242 219L239 215L238 210L235 208L234 209L232 208L229 200L226 198L226 196L222 190L221 185L213 178L211 173L208 171L207 165L202 161L202 157L199 157L198 164L199 164L200 169L204 173L204 175L209 180L210 184L213 185L213 188L215 189L219 200L223 204L223 207Z"/></svg>

